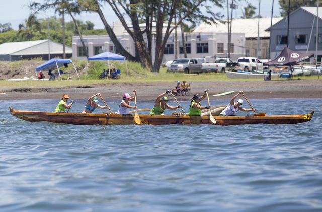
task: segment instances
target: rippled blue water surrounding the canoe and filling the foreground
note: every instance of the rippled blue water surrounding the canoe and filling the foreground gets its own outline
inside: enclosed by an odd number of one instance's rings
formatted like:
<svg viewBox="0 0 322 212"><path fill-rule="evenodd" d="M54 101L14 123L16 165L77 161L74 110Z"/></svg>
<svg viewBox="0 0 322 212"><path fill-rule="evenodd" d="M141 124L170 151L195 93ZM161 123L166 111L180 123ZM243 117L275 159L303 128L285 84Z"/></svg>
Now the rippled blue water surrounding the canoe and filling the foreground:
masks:
<svg viewBox="0 0 322 212"><path fill-rule="evenodd" d="M297 125L76 126L9 112L56 100L0 101L0 211L322 211L321 99L249 100L267 115L315 114ZM120 100L106 102L117 111Z"/></svg>

